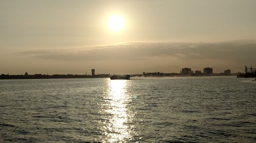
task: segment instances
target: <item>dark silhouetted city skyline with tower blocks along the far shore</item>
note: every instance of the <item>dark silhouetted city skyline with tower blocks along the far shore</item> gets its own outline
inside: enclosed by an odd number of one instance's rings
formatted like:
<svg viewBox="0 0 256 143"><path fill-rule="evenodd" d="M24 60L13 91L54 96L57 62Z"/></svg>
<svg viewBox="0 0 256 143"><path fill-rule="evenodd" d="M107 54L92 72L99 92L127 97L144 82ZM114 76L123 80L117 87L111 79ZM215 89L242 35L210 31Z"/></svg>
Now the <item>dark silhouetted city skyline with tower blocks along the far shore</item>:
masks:
<svg viewBox="0 0 256 143"><path fill-rule="evenodd" d="M142 74L95 74L95 69L91 69L90 74L29 74L26 72L24 75L10 75L1 74L0 79L53 79L53 78L110 78L110 79L131 79L130 77L184 77L184 76L237 76L237 77L250 77L254 76L255 69L245 68L243 73L231 73L230 69L224 70L222 73L212 72L212 68L206 67L202 71L191 71L190 68L182 68L180 73L163 73L163 72L143 72Z"/></svg>

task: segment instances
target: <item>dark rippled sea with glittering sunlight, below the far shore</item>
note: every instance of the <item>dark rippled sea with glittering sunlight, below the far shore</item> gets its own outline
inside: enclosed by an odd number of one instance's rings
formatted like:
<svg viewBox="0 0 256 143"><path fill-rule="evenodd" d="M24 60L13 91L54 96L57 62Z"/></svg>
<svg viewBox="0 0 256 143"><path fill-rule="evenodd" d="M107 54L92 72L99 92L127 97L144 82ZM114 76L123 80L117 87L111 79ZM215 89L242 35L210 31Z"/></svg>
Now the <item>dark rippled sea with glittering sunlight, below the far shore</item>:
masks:
<svg viewBox="0 0 256 143"><path fill-rule="evenodd" d="M256 81L0 80L0 142L256 142Z"/></svg>

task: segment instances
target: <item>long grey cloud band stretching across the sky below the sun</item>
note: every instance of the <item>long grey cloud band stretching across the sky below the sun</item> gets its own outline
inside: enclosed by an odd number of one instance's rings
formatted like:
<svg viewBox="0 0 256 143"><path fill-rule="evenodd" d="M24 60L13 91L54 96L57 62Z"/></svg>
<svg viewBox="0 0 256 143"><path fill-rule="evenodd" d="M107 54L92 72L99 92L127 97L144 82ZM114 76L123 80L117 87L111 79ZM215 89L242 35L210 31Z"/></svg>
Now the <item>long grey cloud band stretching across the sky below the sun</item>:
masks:
<svg viewBox="0 0 256 143"><path fill-rule="evenodd" d="M22 52L33 58L61 61L180 60L256 61L256 43L230 41L215 43L128 42L74 49L48 49Z"/></svg>

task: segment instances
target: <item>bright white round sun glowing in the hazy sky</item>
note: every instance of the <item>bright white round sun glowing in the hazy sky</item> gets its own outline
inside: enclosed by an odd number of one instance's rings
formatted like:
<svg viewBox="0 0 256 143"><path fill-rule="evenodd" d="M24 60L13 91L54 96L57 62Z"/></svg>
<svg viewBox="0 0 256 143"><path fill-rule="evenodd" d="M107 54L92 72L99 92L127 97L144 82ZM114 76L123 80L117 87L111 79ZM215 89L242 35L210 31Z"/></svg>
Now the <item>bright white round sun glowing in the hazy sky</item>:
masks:
<svg viewBox="0 0 256 143"><path fill-rule="evenodd" d="M124 27L124 20L119 15L113 15L108 19L107 24L112 32L120 32Z"/></svg>

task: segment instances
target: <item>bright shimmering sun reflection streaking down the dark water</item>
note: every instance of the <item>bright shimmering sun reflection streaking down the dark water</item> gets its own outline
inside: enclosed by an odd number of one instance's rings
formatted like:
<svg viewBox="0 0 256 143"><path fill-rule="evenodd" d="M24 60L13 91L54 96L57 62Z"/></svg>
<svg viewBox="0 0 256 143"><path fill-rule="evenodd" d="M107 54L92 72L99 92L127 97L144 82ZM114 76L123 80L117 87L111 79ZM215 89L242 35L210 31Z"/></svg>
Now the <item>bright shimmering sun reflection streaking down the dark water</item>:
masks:
<svg viewBox="0 0 256 143"><path fill-rule="evenodd" d="M102 142L126 142L134 135L133 126L129 123L133 120L134 112L131 111L132 97L127 94L127 80L110 80L109 94L104 97L105 105L103 113ZM127 107L130 106L130 107Z"/></svg>

